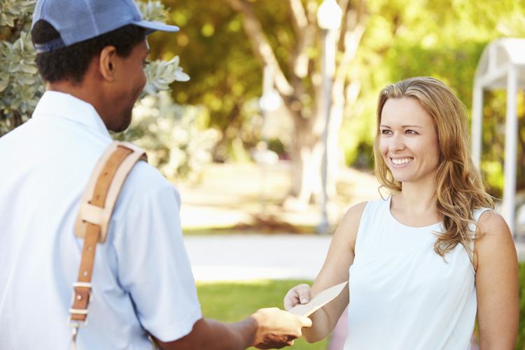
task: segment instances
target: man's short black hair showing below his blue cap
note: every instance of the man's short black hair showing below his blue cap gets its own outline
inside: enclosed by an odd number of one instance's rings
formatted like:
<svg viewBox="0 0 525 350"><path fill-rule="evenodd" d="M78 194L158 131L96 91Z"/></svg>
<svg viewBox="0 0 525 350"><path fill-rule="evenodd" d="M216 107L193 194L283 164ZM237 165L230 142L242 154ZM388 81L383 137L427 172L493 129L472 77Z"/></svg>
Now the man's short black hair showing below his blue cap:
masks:
<svg viewBox="0 0 525 350"><path fill-rule="evenodd" d="M65 48L38 53L35 59L36 66L44 81L54 83L71 80L73 83L80 83L92 58L99 55L103 48L113 45L117 55L128 57L135 45L143 41L145 36L146 29L126 25ZM39 20L31 29L33 43L47 43L59 37L60 34L55 27L45 20Z"/></svg>

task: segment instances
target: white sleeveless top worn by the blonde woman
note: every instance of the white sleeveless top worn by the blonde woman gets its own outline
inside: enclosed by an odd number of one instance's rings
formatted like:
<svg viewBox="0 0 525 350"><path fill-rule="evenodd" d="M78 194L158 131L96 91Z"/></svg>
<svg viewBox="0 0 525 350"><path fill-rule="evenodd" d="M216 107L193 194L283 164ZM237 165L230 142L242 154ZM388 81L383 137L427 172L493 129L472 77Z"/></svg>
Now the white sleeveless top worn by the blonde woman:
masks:
<svg viewBox="0 0 525 350"><path fill-rule="evenodd" d="M477 300L468 253L458 244L445 262L433 248L441 223L403 225L390 202L368 202L359 223L344 350L470 349Z"/></svg>

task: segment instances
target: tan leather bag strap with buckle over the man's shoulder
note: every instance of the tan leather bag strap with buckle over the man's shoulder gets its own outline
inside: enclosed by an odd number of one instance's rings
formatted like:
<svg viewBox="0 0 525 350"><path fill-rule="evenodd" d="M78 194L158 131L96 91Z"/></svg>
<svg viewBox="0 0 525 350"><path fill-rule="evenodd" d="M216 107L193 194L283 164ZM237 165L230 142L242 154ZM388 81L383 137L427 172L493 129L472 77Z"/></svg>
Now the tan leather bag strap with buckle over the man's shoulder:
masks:
<svg viewBox="0 0 525 350"><path fill-rule="evenodd" d="M146 153L127 142L114 141L94 167L80 200L75 236L84 238L78 281L73 283L73 300L69 325L73 329L73 346L78 327L87 325L87 306L91 298L91 276L97 243L104 244L113 208L124 181Z"/></svg>

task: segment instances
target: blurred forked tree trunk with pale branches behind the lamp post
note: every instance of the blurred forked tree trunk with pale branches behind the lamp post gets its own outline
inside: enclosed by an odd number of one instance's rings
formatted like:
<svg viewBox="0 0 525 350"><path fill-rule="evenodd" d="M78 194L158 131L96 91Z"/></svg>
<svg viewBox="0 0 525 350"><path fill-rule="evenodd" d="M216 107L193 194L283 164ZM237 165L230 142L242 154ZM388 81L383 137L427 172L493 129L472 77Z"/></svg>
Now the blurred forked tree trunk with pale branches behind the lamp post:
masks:
<svg viewBox="0 0 525 350"><path fill-rule="evenodd" d="M225 3L244 15L244 30L251 41L253 51L265 66L272 68L274 87L281 94L284 104L290 115L293 116L295 134L293 144L290 145L292 158L292 188L290 193L295 196L298 206L304 207L307 203L321 202L321 162L323 159L323 130L325 127L325 97L323 86L316 81L316 64L307 55L308 50L318 38L320 29L316 23L318 1L308 0L306 5L301 0L288 0L290 16L296 36L296 45L290 59L290 77L286 77L277 62L274 52L269 45L259 20L255 17L250 1L223 0ZM362 25L365 0L358 1L356 9L352 9L349 0L339 0L344 16L343 25L339 31L339 43L342 50L342 59L336 68L332 94L329 103L330 124L327 134L327 193L328 198L335 196L335 179L339 162L342 157L339 152L339 130L342 125L346 106L345 88L348 82L349 66L360 38L363 34ZM311 76L311 82L305 78ZM313 83L313 84L311 84ZM313 85L313 86L312 86ZM304 96L314 94L313 106L305 108L302 101ZM296 206L297 206L296 205Z"/></svg>

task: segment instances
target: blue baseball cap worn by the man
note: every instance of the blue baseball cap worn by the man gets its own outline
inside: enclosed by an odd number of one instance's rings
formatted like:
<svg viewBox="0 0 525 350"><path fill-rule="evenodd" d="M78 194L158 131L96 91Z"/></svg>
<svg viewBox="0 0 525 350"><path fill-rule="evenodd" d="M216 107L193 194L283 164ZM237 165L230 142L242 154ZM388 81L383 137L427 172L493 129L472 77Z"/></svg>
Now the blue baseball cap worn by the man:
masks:
<svg viewBox="0 0 525 350"><path fill-rule="evenodd" d="M146 34L158 30L179 31L174 25L143 20L133 0L38 0L31 29L39 20L55 27L60 38L34 44L38 53L65 48L125 25L143 27Z"/></svg>

